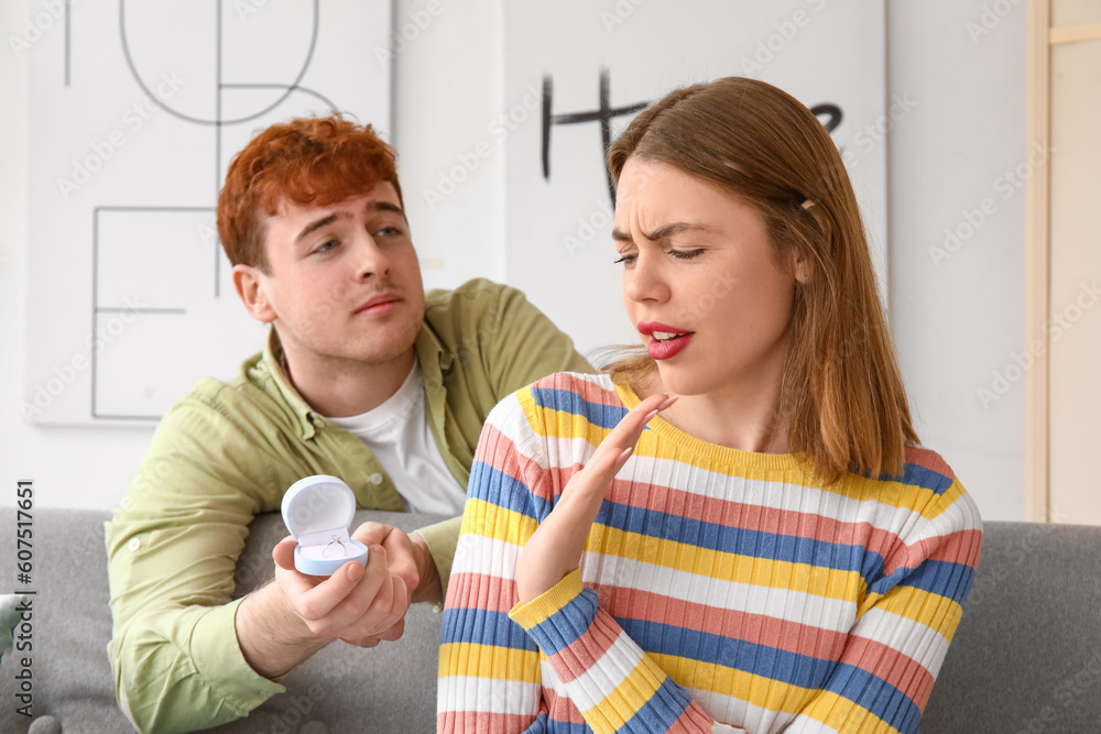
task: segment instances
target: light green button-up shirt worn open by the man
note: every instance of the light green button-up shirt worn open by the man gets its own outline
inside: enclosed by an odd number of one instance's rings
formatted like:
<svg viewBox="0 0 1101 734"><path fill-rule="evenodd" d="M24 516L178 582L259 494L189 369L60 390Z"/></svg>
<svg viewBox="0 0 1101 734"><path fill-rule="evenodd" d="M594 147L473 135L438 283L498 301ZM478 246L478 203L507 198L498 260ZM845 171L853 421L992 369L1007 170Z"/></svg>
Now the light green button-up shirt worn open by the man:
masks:
<svg viewBox="0 0 1101 734"><path fill-rule="evenodd" d="M483 280L427 294L415 349L428 426L462 486L498 401L552 372L591 372L522 293ZM272 330L235 379L204 379L173 406L107 523L108 653L119 703L142 731L215 726L283 692L244 660L240 600L230 601L257 513L279 512L284 491L310 474L341 478L359 507L403 508L371 450L294 390L281 351ZM445 589L460 519L421 530Z"/></svg>

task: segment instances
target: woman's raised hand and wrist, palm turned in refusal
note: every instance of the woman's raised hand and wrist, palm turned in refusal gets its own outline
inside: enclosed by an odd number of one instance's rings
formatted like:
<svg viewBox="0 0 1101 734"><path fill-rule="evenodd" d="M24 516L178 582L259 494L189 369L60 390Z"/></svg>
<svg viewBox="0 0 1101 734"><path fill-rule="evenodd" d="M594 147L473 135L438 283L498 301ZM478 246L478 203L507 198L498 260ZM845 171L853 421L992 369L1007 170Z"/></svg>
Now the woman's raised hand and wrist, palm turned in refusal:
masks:
<svg viewBox="0 0 1101 734"><path fill-rule="evenodd" d="M604 492L623 468L646 424L676 397L658 393L634 406L600 441L589 462L574 474L550 511L524 545L516 561L516 593L526 604L581 563L585 540Z"/></svg>

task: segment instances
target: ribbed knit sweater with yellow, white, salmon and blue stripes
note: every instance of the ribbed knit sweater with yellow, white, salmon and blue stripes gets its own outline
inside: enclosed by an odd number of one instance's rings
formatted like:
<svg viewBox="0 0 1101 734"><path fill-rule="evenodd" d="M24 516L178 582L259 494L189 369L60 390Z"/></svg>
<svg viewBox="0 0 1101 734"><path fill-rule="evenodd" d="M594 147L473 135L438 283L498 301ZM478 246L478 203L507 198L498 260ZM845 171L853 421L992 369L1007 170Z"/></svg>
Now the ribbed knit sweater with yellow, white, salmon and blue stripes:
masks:
<svg viewBox="0 0 1101 734"><path fill-rule="evenodd" d="M580 569L517 604L520 549L637 403L607 375L560 373L489 416L447 590L439 731L915 732L982 544L926 449L907 448L902 476L822 487L794 456L657 416Z"/></svg>

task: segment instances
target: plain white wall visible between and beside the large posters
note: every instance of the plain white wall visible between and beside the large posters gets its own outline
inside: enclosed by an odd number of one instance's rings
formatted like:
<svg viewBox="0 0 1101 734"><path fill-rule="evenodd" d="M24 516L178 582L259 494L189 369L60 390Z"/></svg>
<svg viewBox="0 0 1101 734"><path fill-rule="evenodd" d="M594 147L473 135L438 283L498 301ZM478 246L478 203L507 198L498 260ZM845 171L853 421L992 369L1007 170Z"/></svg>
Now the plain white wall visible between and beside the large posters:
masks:
<svg viewBox="0 0 1101 734"><path fill-rule="evenodd" d="M502 2L442 0L443 12L395 58L393 140L429 287L454 284L444 282L442 264L458 280L504 273L500 151L435 210L422 195L500 112ZM395 24L424 6L397 0ZM602 0L593 12L613 6ZM1002 199L998 188L1025 156L1023 6L975 42L967 24L981 22L981 0L892 1L887 12L889 97L916 101L892 122L889 139L892 324L918 431L989 519L1024 517L1023 385L989 409L977 394L1024 343L1024 193ZM0 3L0 343L9 346L0 352L0 491L13 496L17 479L33 479L40 506L107 508L121 497L151 430L44 428L19 413L28 388L28 80L25 57L8 39L41 11L41 0ZM984 198L996 199L996 211L938 267L930 248L944 247L945 228L964 222L963 212L981 209ZM456 263L448 243L460 231L482 239Z"/></svg>

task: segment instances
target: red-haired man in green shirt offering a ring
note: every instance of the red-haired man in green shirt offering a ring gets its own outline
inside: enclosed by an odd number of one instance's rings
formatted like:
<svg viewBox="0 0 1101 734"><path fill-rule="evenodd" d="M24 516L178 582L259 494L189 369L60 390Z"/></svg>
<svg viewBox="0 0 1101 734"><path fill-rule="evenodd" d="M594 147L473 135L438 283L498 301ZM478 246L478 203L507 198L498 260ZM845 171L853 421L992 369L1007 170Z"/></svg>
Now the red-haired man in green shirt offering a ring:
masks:
<svg viewBox="0 0 1101 734"><path fill-rule="evenodd" d="M401 635L442 601L458 517L412 536L368 523L366 568L327 579L275 549L275 581L230 602L248 525L333 474L359 507L461 514L489 410L560 370L591 371L523 295L487 281L425 295L393 151L338 117L269 128L230 165L218 232L266 348L164 417L107 527L118 698L142 731L247 714L340 638ZM412 596L411 596L412 594Z"/></svg>

